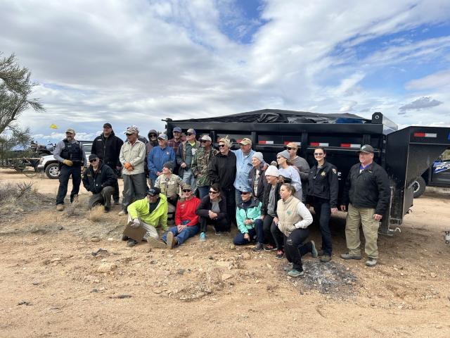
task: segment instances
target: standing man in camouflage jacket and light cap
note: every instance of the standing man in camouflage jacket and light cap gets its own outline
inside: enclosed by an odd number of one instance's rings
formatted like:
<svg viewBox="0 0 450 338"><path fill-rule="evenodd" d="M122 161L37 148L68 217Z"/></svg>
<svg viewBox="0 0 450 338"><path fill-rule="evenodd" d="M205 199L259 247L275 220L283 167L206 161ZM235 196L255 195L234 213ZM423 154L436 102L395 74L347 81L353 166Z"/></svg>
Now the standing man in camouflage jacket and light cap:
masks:
<svg viewBox="0 0 450 338"><path fill-rule="evenodd" d="M208 135L203 135L200 137L200 149L195 152L192 159L191 168L195 177L195 184L197 185L200 199L207 196L211 185L208 170L210 167L211 158L216 153L214 148L211 146L211 142L211 137Z"/></svg>

